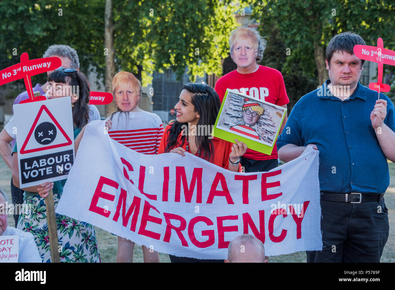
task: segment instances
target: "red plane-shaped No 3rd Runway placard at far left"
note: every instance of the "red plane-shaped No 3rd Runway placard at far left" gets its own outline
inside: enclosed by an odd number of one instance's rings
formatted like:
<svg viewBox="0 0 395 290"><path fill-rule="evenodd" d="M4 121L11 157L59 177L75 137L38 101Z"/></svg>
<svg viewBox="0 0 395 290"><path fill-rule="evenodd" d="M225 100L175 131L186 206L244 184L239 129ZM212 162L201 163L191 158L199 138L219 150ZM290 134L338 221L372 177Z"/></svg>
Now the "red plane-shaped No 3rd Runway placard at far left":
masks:
<svg viewBox="0 0 395 290"><path fill-rule="evenodd" d="M57 69L60 65L62 65L62 60L58 57L36 58L34 60L29 60L28 53L23 52L23 54L21 54L21 62L19 64L11 65L10 67L0 71L0 86L7 84L8 82L13 82L14 80L24 79L29 99L21 103L45 100L46 98L44 96L35 97L33 99L33 87L30 77L32 75L38 75L40 73Z"/></svg>

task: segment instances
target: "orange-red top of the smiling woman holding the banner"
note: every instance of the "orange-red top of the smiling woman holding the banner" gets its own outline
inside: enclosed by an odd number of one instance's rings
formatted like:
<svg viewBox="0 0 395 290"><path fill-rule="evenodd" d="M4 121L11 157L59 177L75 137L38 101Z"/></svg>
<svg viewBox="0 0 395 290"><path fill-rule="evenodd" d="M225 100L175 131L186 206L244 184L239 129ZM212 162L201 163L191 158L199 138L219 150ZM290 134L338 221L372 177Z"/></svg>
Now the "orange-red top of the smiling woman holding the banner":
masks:
<svg viewBox="0 0 395 290"><path fill-rule="evenodd" d="M162 140L160 141L159 145L159 150L158 154L165 153L165 149L167 146L167 137L169 136L169 129L171 125L167 125L165 128L165 133L163 134ZM177 147L182 147L186 150L186 142L181 146L181 137L182 137L182 131L177 137L177 145L174 146L172 149L177 148ZM222 168L228 169L229 166L229 154L232 152L232 143L228 142L226 140L222 140L220 138L213 137L211 139L213 141L213 153L214 153L214 160L211 162L217 166L220 166ZM197 154L198 152L196 152ZM195 154L195 156L196 156ZM200 152L200 157L203 157L203 151ZM241 168L241 164L239 163L239 172L243 172Z"/></svg>

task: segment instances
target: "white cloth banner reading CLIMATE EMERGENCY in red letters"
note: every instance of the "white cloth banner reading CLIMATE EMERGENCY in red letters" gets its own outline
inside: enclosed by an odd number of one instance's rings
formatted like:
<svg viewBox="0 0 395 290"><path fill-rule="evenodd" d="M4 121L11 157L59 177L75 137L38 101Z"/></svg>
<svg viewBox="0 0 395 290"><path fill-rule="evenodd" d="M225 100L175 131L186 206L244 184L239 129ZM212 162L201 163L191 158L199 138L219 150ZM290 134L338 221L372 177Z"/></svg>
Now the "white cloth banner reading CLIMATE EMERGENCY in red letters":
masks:
<svg viewBox="0 0 395 290"><path fill-rule="evenodd" d="M238 173L190 153L137 153L103 128L86 127L57 213L177 256L224 259L246 233L270 256L322 249L311 146L269 172Z"/></svg>

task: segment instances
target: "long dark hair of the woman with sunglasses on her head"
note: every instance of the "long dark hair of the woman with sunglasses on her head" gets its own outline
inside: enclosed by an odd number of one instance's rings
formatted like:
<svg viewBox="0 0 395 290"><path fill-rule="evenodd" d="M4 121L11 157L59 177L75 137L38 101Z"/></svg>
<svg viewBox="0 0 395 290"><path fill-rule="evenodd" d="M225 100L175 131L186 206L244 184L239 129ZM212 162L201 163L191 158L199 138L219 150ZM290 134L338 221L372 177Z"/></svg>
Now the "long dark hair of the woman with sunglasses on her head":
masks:
<svg viewBox="0 0 395 290"><path fill-rule="evenodd" d="M75 126L82 129L87 123L89 118L89 99L90 90L87 77L80 71L73 71L65 73L62 69L53 71L47 77L48 82L63 82L71 86L72 92L78 96L77 101L71 108L73 112L73 123ZM75 90L75 88L78 88Z"/></svg>

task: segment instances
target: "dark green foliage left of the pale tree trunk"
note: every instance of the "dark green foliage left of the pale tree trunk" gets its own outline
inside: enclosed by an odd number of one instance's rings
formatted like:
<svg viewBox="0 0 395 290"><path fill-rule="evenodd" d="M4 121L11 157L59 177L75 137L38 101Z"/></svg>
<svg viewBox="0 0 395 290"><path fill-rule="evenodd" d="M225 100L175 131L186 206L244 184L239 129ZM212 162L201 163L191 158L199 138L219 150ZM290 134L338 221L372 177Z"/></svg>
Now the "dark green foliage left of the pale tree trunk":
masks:
<svg viewBox="0 0 395 290"><path fill-rule="evenodd" d="M30 59L40 58L53 44L75 48L81 71L95 66L103 57L103 3L104 0L2 0L1 68L18 63L25 51ZM43 83L45 75L32 79Z"/></svg>

